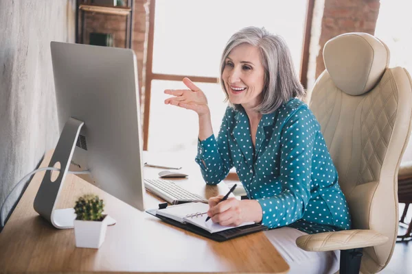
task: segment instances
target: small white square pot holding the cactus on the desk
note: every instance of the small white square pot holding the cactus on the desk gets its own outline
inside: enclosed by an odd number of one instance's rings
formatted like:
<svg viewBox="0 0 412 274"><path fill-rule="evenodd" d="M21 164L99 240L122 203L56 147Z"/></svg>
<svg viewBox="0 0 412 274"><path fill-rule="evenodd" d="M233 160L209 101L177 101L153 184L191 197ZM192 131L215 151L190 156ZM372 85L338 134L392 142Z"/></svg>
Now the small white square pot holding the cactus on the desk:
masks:
<svg viewBox="0 0 412 274"><path fill-rule="evenodd" d="M76 247L98 249L102 245L106 236L106 216L103 221L74 220Z"/></svg>

